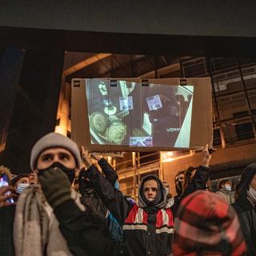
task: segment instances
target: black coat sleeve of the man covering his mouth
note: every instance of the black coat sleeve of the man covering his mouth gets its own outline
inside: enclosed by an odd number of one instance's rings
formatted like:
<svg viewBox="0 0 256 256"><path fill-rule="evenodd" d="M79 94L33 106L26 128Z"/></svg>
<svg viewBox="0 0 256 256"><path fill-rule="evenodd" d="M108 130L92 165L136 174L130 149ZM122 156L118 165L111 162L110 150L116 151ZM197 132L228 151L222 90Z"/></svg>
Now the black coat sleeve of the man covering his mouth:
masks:
<svg viewBox="0 0 256 256"><path fill-rule="evenodd" d="M86 214L72 199L58 206L54 214L74 256L117 255L105 218L97 214Z"/></svg>

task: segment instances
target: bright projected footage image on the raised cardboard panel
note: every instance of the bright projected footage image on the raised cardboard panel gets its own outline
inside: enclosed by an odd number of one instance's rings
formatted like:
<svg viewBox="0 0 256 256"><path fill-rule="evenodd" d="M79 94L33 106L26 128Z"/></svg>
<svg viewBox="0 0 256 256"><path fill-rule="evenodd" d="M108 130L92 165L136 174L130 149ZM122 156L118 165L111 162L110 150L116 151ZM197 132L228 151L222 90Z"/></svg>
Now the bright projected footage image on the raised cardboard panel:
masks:
<svg viewBox="0 0 256 256"><path fill-rule="evenodd" d="M193 85L86 79L93 144L189 147Z"/></svg>

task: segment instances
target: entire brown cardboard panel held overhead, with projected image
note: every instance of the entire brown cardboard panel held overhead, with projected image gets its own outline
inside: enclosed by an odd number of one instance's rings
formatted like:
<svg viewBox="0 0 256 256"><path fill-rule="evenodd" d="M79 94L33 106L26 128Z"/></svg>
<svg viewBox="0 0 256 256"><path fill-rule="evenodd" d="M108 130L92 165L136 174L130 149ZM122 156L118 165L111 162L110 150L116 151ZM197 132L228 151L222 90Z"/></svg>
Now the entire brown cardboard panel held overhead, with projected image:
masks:
<svg viewBox="0 0 256 256"><path fill-rule="evenodd" d="M72 81L72 138L88 150L195 149L212 138L209 78Z"/></svg>

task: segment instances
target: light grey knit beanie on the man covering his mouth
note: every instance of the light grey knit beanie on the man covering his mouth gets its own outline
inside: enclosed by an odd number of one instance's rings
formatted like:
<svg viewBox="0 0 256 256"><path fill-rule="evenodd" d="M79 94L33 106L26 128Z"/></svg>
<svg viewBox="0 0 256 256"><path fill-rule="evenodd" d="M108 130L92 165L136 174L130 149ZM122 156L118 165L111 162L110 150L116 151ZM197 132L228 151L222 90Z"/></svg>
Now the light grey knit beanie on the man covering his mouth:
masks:
<svg viewBox="0 0 256 256"><path fill-rule="evenodd" d="M67 138L62 134L57 134L53 132L50 134L46 134L34 144L30 154L31 170L36 169L37 160L42 151L54 147L62 147L66 150L69 150L74 155L76 165L78 166L78 168L80 168L81 156L77 143L73 142L70 138Z"/></svg>

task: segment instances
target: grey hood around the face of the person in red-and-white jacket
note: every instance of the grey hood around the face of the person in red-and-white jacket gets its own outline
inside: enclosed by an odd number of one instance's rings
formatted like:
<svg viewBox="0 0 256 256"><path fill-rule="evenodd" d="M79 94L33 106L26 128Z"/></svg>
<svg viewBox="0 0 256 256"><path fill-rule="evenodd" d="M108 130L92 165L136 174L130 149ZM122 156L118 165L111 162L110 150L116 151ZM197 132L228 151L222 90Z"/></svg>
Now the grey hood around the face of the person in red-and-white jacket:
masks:
<svg viewBox="0 0 256 256"><path fill-rule="evenodd" d="M142 178L142 182L139 186L139 189L138 189L138 206L142 207L142 208L146 208L147 206L149 206L148 202L146 202L146 199L144 199L145 197L143 196L143 186L144 186L144 183L146 181L149 181L149 180L155 180L156 182L158 182L158 193L161 194L161 199L159 202L157 202L157 204L154 206L154 207L157 207L159 209L162 209L166 206L166 189L165 187L163 186L162 184L162 181L160 180L160 178L158 178L158 176L156 175L153 175L153 174L150 174L150 175L147 175L145 178Z"/></svg>

